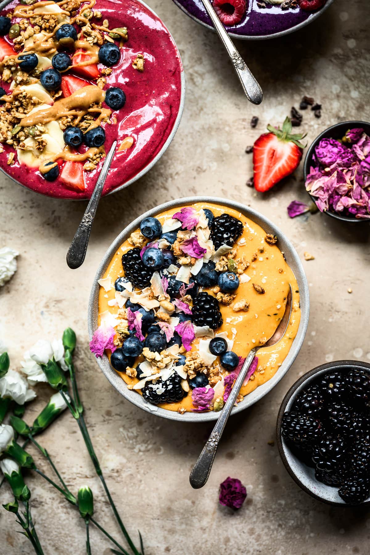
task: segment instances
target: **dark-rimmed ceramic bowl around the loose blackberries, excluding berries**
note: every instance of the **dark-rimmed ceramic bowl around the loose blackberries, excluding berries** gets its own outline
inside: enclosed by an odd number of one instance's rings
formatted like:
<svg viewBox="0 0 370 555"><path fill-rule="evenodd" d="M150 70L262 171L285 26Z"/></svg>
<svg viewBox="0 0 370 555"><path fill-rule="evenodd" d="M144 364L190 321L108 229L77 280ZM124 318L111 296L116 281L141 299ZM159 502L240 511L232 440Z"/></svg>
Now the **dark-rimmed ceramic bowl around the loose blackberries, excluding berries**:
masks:
<svg viewBox="0 0 370 555"><path fill-rule="evenodd" d="M295 400L298 393L300 393L303 388L307 387L309 384L315 381L318 376L322 374L327 374L331 370L341 370L342 372L348 372L351 368L362 370L364 369L370 373L370 364L367 364L367 362L359 362L357 360L337 360L336 362L329 362L328 364L317 366L313 370L310 370L310 372L307 372L307 374L300 377L300 379L292 385L290 390L283 398L280 410L277 415L276 423L277 447L283 465L285 466L286 470L291 475L293 480L298 484L298 486L302 488L303 491L309 493L312 497L315 497L315 499L340 507L353 506L344 503L343 499L341 499L341 497L339 497L338 495L338 488L326 486L322 482L318 482L315 478L315 470L305 465L305 463L301 462L296 457L296 455L292 453L285 440L281 436L281 422L283 414L287 411L290 411L293 401ZM362 505L368 505L369 503L370 498L362 503Z"/></svg>

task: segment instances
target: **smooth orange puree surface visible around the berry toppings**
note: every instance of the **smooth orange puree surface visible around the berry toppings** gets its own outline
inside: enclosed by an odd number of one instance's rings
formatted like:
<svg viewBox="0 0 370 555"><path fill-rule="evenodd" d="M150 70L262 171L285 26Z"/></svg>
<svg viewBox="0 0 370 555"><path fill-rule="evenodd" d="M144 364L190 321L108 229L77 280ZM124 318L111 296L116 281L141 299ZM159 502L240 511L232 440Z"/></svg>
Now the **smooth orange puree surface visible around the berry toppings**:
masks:
<svg viewBox="0 0 370 555"><path fill-rule="evenodd" d="M224 323L219 329L215 330L215 334L227 332L229 339L232 339L233 335L235 335L232 350L236 352L237 355L246 357L253 347L263 345L270 339L284 314L289 284L292 286L292 313L285 335L283 335L275 346L261 346L261 349L257 352L259 359L257 369L254 375L251 376L247 385L243 386L240 391L241 394L245 396L251 391L254 391L256 387L271 379L287 356L292 342L296 337L301 317L300 295L297 280L278 248L278 240L275 245L267 244L265 241L266 231L254 223L254 221L251 221L246 218L244 214L227 206L211 203L196 203L192 206L195 210L208 208L215 216L219 216L223 213L230 214L241 220L244 225L244 232L242 236L237 239L234 248L237 248L237 258L245 255L246 260L250 262L250 266L245 270L245 274L251 279L248 282L240 283L236 291L237 296L235 302L240 299L247 300L250 304L249 310L234 312L232 310L232 305L234 303L231 305L223 305L220 303L220 310ZM173 208L157 215L156 218L163 224L165 220L171 218L171 216L179 210L180 208ZM103 287L100 287L99 325L100 314L107 310L110 311L111 314L117 314L118 312L118 307L109 306L108 301L114 299L115 296L114 281L118 277L124 275L121 264L122 255L132 248L132 245L126 240L116 251L105 271L103 278L110 278L112 287L108 292L106 292ZM262 248L263 252L260 253L259 249L262 250ZM257 258L253 260L256 255ZM259 294L252 284L263 287L265 293ZM210 289L205 288L204 290L212 294ZM199 339L194 340L192 350L196 350L198 342ZM110 351L108 351L107 354L110 357ZM138 360L141 361L143 358L140 357ZM218 357L217 362L219 362ZM227 373L228 372L226 372L226 374ZM139 381L137 378L130 378L124 372L118 372L118 374L126 384L134 385ZM194 408L191 402L191 390L181 402L163 403L159 406L171 411L178 411L180 407L184 407L186 411L190 411L191 408Z"/></svg>

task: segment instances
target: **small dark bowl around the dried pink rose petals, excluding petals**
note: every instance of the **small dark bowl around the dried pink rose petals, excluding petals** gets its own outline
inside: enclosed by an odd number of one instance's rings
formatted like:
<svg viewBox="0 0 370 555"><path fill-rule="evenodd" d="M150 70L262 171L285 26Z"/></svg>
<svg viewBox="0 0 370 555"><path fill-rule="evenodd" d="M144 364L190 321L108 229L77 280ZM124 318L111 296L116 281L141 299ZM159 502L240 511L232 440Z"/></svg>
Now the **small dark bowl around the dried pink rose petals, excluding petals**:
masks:
<svg viewBox="0 0 370 555"><path fill-rule="evenodd" d="M305 162L303 163L303 178L305 179L305 183L306 183L307 175L310 173L311 165L316 164L315 147L318 145L318 143L320 143L321 139L341 139L343 135L346 134L346 131L348 129L353 129L356 127L363 128L364 132L367 133L367 135L370 135L370 123L354 121L354 122L336 123L335 125L332 125L331 127L328 127L327 129L325 129L325 131L323 131L322 133L320 133L320 135L318 135L318 137L316 137L316 139L311 144L310 148L307 150ZM308 191L307 191L307 194L310 195ZM313 202L316 204L315 197L312 195L310 196ZM327 210L325 214L327 214L328 216L331 216L331 218L336 218L337 220L346 221L347 223L358 223L359 221L361 222L369 221L362 218L353 218L352 216L344 216L342 214L338 214L337 212L331 212L329 210Z"/></svg>

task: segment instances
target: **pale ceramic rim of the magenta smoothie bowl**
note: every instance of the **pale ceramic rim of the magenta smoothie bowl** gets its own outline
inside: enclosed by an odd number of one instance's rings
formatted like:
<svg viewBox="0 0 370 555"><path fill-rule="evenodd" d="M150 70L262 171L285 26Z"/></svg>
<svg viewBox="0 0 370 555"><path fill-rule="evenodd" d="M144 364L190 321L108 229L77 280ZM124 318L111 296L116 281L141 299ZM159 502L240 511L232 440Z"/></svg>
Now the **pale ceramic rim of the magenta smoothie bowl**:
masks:
<svg viewBox="0 0 370 555"><path fill-rule="evenodd" d="M181 116L183 115L184 104L185 104L185 73L184 73L184 66L183 66L183 62L181 60L181 56L180 56L178 46L174 41L174 37L169 32L168 28L163 23L162 19L158 16L158 14L155 13L155 11L150 6L148 6L148 4L145 4L145 2L143 2L143 0L135 0L135 1L138 2L139 4L142 4L146 9L148 9L151 13L153 13L153 15L155 17L158 17L158 19L160 19L163 26L167 29L167 32L168 32L168 34L169 34L169 36L170 36L170 38L171 38L171 40L174 44L174 47L176 49L177 56L178 56L178 59L179 59L179 65L180 65L180 68L181 68L181 74L180 74L181 92L180 92L179 111L178 111L178 115L176 115L176 119L175 119L173 128L171 129L171 132L170 132L169 136L167 137L165 143L162 145L161 149L159 150L158 154L156 154L156 156L153 158L153 160L150 160L150 162L148 164L146 164L146 166L142 170L140 170L138 174L134 175L133 178L131 178L131 179L129 179L129 181L126 181L125 183L119 185L115 189L109 191L109 193L107 193L107 195L105 195L105 196L116 193L117 191L120 191L122 189L126 189L126 187L133 184L134 181L137 181L138 179L143 177L143 175L148 173L148 171L151 170L151 168L153 168L153 166L158 162L158 160L166 152L170 143L172 142L173 138L175 137L175 133L178 130L178 127L180 125L180 120L181 120ZM28 189L29 191L32 191L33 193L37 193L37 194L42 195L42 196L47 196L49 198L59 199L59 200L85 200L85 201L88 200L85 197L84 198L77 198L77 199L64 199L64 198L59 198L58 196L45 195L44 193L40 193L40 191L37 191L35 189L31 189L31 188L27 187L27 185L24 185L23 183L21 183L21 181L18 181L12 175L9 175L1 166L0 166L0 171L2 171L2 173L4 175L6 175L8 178L12 179L12 181L14 181L14 183L17 183L18 185L21 185L22 187L24 187L24 189Z"/></svg>

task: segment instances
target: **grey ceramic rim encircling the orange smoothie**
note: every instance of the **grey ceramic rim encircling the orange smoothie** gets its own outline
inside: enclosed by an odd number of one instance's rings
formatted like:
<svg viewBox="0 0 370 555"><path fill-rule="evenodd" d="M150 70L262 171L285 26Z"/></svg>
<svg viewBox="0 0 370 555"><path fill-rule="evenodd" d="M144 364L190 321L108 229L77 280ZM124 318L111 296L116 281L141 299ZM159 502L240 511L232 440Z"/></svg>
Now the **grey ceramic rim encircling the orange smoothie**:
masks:
<svg viewBox="0 0 370 555"><path fill-rule="evenodd" d="M211 196L190 196L184 199L178 200L171 200L168 203L161 204L160 206L156 206L152 208L145 214L136 218L131 224L129 224L113 241L110 245L109 249L103 256L103 260L101 261L97 274L95 275L93 287L90 294L89 299L89 309L88 309L88 326L89 326L89 336L90 339L92 338L94 331L98 327L98 297L99 297L99 284L98 279L102 278L104 275L105 270L108 268L108 265L113 258L116 250L120 247L122 243L130 234L139 228L141 220L147 218L148 216L156 216L164 212L165 210L169 210L171 208L177 208L180 206L191 206L194 203L214 203L220 204L222 206L229 206L230 208L234 208L235 210L239 210L242 214L246 215L247 218L250 218L252 221L255 221L256 224L259 224L266 233L272 233L273 235L278 236L279 241L279 248L285 254L285 258L287 264L292 269L293 273L296 276L298 287L300 289L300 306L301 306L301 321L298 327L298 332L295 337L295 340L292 343L291 349L288 352L286 359L283 361L282 365L276 372L274 376L272 376L271 380L268 380L265 384L260 385L249 393L249 395L244 397L244 401L238 403L236 407L232 409L231 414L235 414L244 410L251 405L254 405L257 401L259 401L263 396L266 395L272 388L282 379L282 377L286 374L286 372L290 369L291 365L293 364L298 352L301 349L303 340L305 339L307 325L308 325L308 314L310 312L310 295L308 292L308 284L307 278L305 274L305 270L303 270L303 266L299 256L296 253L295 248L291 244L291 242L286 238L286 236L276 227L272 221L268 220L262 214L259 214L249 206L245 206L243 204L237 203L234 200L229 199L221 199L221 198L213 198ZM128 399L134 405L142 408L146 412L153 412L156 416L161 416L163 418L169 418L170 420L178 420L180 422L209 422L211 420L217 420L219 416L217 412L210 411L210 412L201 412L201 413L194 413L194 412L186 412L184 415L180 415L178 412L173 412L166 410L165 408L156 407L156 410L153 410L153 406L150 406L149 403L143 399L139 393L136 391L130 391L124 380L117 374L117 372L113 369L110 365L109 359L107 355L104 353L103 357L99 357L97 362L102 369L103 374L107 377L111 385L115 387L119 393Z"/></svg>

